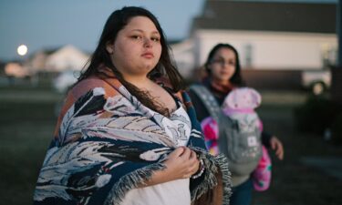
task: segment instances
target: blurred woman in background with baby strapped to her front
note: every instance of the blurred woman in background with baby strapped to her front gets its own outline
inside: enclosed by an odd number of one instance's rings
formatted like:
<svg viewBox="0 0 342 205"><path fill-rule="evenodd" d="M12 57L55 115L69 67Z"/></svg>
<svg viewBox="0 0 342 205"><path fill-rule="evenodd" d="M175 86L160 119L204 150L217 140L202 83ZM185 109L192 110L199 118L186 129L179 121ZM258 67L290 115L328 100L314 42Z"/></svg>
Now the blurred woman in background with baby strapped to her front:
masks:
<svg viewBox="0 0 342 205"><path fill-rule="evenodd" d="M236 49L229 44L218 44L212 47L204 67L208 77L204 78L202 84L195 86L205 87L205 90L208 90L208 94L212 96L206 98L212 98L215 101L214 104L218 105L218 107L223 105L224 98L227 97L233 88L244 86L244 81L240 72L241 67L238 53ZM210 110L208 110L203 103L202 97L199 96L198 91L196 92L194 89L190 89L189 94L192 98L192 104L196 110L198 119L202 122L202 124L205 123L206 119L210 117ZM203 131L205 135L205 130ZM208 135L211 134L212 133L209 133ZM224 132L220 132L219 134L219 138L224 138L224 136L221 135L224 135ZM278 159L283 159L283 145L278 138L263 131L262 142L266 147L275 149L275 154ZM232 172L232 183L233 193L231 197L231 204L251 204L253 183L250 176L236 176Z"/></svg>

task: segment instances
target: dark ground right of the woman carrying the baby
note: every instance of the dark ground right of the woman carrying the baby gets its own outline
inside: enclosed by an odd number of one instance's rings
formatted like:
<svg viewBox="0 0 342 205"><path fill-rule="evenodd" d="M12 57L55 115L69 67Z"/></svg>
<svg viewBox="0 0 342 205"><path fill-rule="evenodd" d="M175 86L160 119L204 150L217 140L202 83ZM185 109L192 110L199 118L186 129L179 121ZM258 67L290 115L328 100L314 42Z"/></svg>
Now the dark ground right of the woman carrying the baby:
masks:
<svg viewBox="0 0 342 205"><path fill-rule="evenodd" d="M286 95L287 98L281 98ZM271 187L254 192L253 204L341 205L342 163L333 164L338 173L332 175L328 174L331 169L327 165L331 163L327 162L341 161L342 147L325 141L323 136L295 130L293 108L303 102L301 93L265 92L264 96L268 101L260 109L261 117L267 131L284 142L285 159L280 161L272 156Z"/></svg>

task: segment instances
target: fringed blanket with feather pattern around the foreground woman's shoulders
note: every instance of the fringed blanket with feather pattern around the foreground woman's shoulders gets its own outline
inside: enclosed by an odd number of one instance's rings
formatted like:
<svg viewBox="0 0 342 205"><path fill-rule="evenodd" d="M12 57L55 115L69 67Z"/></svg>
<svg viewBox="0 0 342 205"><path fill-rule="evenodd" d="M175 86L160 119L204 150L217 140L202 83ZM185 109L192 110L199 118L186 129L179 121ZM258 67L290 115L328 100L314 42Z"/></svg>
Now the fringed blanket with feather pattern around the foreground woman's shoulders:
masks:
<svg viewBox="0 0 342 205"><path fill-rule="evenodd" d="M230 173L223 155L205 149L190 97L181 92L192 121L188 147L205 171L191 179L192 204L228 204ZM47 150L35 204L118 204L128 190L150 179L176 148L161 125L116 78L88 78L69 91Z"/></svg>

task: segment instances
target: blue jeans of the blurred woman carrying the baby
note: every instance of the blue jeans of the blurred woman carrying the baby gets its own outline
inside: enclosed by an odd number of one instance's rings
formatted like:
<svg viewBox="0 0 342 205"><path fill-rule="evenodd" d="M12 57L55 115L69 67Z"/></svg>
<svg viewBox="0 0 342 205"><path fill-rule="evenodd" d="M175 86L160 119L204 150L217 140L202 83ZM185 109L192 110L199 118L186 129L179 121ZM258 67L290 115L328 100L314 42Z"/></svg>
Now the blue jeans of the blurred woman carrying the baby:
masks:
<svg viewBox="0 0 342 205"><path fill-rule="evenodd" d="M232 191L230 205L250 205L253 191L252 179L250 178L237 187L233 187Z"/></svg>

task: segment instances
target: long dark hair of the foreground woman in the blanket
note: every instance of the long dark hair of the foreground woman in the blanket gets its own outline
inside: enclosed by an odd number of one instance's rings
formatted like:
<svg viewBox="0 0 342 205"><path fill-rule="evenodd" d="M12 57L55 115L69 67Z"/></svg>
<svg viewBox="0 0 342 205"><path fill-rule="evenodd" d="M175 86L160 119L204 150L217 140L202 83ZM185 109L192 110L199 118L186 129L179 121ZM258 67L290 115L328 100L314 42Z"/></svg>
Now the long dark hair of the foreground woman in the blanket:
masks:
<svg viewBox="0 0 342 205"><path fill-rule="evenodd" d="M167 114L165 113L165 108L161 108L161 105L153 101L148 92L141 91L138 87L130 84L122 77L122 75L119 73L119 70L114 67L113 63L111 62L109 52L106 49L106 45L108 43L114 43L119 31L129 24L132 17L136 16L146 16L150 18L161 35L161 58L156 67L150 71L148 77L150 77L152 80L157 77L167 77L170 80L171 88L174 92L177 92L184 87L181 74L171 61L171 55L169 53L170 47L166 42L166 37L156 16L152 15L150 11L136 6L125 6L109 15L109 18L99 38L98 46L89 60L89 66L84 72L82 72L80 77L78 77L78 82L89 76L98 74L98 67L104 65L112 70L122 85L130 91L130 94L137 97L141 103L148 108L155 110L157 109L157 111Z"/></svg>

